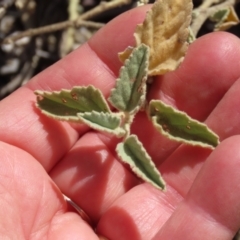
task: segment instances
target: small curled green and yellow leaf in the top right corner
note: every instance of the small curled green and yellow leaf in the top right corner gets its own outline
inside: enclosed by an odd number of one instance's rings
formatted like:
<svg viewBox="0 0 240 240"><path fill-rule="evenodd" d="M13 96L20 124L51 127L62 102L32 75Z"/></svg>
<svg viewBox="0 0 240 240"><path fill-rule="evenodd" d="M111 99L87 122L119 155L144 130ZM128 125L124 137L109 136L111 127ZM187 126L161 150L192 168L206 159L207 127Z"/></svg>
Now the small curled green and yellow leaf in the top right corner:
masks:
<svg viewBox="0 0 240 240"><path fill-rule="evenodd" d="M210 17L210 19L217 22L214 31L225 31L239 23L239 18L232 6L218 10Z"/></svg>

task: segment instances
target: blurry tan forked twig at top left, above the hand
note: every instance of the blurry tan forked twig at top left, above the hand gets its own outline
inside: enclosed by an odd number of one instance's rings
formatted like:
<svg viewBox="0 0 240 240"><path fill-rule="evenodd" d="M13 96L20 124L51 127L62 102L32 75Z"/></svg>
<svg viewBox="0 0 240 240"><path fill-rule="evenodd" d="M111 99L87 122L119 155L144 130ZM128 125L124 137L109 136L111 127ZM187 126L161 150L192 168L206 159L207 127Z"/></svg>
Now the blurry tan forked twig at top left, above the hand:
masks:
<svg viewBox="0 0 240 240"><path fill-rule="evenodd" d="M55 23L55 24L51 24L48 26L40 27L40 28L29 29L27 31L5 38L3 40L3 43L4 44L13 43L23 37L32 37L39 34L55 32L68 27L86 26L86 27L92 27L92 28L101 28L102 26L104 26L104 24L91 22L91 21L84 21L84 20L91 19L97 16L99 13L102 13L106 10L110 10L112 8L122 6L124 4L128 4L130 2L131 2L130 0L113 0L111 2L101 2L97 7L82 14L76 20L69 20L69 21Z"/></svg>

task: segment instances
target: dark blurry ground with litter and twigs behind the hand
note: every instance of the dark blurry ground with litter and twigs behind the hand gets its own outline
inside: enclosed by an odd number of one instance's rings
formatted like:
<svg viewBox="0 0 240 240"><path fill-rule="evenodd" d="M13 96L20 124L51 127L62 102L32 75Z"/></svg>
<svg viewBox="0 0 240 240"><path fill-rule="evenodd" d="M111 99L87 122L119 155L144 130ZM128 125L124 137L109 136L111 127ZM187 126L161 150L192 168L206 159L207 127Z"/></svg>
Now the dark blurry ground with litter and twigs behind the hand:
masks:
<svg viewBox="0 0 240 240"><path fill-rule="evenodd" d="M115 7L104 10L100 0L0 0L0 100L79 47L108 21L138 4L131 0L128 3L111 0L105 4L113 2ZM193 2L194 8L203 3ZM230 1L205 2L214 5ZM239 15L240 4L231 2ZM76 24L74 20L84 14L86 21ZM239 36L240 26L233 25L227 31ZM207 18L197 37L214 27L215 22Z"/></svg>

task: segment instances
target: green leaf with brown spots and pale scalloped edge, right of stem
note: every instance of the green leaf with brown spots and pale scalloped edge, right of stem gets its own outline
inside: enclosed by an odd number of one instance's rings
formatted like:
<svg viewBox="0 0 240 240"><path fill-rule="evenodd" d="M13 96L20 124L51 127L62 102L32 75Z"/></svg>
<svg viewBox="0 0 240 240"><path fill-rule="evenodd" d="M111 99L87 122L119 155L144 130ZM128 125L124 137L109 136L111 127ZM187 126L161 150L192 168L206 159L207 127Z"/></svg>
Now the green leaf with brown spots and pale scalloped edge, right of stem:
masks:
<svg viewBox="0 0 240 240"><path fill-rule="evenodd" d="M150 102L149 115L156 129L169 139L211 149L219 144L218 136L207 125L160 100Z"/></svg>

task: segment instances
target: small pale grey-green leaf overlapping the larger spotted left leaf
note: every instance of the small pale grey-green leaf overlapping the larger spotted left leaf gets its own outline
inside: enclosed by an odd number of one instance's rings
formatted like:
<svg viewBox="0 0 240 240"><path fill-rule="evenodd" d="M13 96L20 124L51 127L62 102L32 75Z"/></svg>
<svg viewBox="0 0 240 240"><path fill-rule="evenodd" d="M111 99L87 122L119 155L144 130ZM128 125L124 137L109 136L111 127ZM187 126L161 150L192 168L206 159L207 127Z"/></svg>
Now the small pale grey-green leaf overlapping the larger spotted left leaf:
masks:
<svg viewBox="0 0 240 240"><path fill-rule="evenodd" d="M120 127L121 116L114 113L104 112L85 112L77 114L80 120L89 127L122 137L125 134L125 130Z"/></svg>

